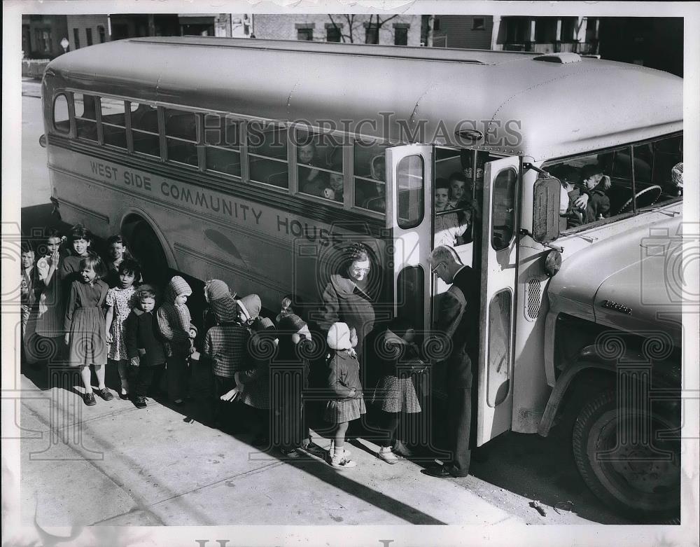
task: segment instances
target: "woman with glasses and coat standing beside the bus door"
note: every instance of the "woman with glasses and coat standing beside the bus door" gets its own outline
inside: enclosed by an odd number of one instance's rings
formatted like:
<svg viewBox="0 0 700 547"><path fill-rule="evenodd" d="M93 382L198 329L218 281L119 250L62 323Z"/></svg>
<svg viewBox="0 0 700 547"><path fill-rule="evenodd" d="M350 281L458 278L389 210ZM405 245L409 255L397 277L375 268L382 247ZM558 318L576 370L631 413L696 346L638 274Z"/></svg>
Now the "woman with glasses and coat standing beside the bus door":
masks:
<svg viewBox="0 0 700 547"><path fill-rule="evenodd" d="M342 321L355 328L358 336L357 353L362 362L365 336L374 328L374 298L370 273L370 252L362 243L344 249L343 263L330 276L323 290L323 310L318 321L323 333L334 323Z"/></svg>

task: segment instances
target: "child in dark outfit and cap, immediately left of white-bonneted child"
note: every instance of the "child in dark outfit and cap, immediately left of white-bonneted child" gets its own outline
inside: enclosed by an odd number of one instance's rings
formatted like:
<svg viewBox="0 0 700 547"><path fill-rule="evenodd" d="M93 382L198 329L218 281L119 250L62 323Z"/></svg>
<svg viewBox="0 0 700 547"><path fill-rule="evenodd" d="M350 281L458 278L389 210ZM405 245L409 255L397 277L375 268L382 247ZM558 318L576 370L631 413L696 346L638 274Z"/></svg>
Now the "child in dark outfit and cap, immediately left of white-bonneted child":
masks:
<svg viewBox="0 0 700 547"><path fill-rule="evenodd" d="M311 438L304 415L303 392L308 388L309 359L313 354L311 332L297 314L287 314L278 325L279 351L275 362L281 367L273 384L280 387L276 394L276 431L274 443L285 457L297 458L297 448L308 448ZM299 373L297 375L297 372Z"/></svg>

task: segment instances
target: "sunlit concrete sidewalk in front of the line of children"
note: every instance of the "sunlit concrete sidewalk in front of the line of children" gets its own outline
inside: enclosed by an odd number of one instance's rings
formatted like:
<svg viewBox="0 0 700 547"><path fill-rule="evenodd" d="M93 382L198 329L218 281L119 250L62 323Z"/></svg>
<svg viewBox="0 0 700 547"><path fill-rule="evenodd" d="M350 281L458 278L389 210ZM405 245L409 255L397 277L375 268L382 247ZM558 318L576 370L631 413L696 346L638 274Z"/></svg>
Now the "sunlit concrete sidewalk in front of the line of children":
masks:
<svg viewBox="0 0 700 547"><path fill-rule="evenodd" d="M109 385L109 382L108 382ZM409 461L393 466L351 446L355 469L306 456L282 461L148 399L83 405L22 376L22 521L39 525L332 525L521 522ZM314 439L324 448L330 441ZM366 450L363 450L363 446Z"/></svg>

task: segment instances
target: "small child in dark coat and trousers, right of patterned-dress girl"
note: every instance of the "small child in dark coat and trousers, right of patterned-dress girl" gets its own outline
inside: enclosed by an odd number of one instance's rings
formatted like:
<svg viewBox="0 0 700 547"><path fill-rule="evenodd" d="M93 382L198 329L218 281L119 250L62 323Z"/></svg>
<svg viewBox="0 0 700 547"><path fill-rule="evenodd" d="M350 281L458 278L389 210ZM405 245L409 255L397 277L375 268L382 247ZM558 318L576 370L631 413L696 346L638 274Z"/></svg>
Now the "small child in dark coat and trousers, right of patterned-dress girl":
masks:
<svg viewBox="0 0 700 547"><path fill-rule="evenodd" d="M155 311L155 290L141 285L136 291L136 305L124 321L126 355L136 368L134 406L146 408L148 389L165 369L165 351L158 337L158 319Z"/></svg>

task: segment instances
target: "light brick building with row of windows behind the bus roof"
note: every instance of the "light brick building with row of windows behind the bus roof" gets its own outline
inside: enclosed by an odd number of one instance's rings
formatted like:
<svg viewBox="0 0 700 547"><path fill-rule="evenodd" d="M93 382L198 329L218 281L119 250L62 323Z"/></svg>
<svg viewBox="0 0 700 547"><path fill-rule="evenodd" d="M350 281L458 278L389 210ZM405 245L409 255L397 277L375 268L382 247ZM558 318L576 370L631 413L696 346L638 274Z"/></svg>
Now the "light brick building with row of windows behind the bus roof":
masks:
<svg viewBox="0 0 700 547"><path fill-rule="evenodd" d="M256 14L255 38L421 45L421 15Z"/></svg>

